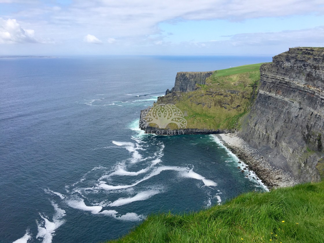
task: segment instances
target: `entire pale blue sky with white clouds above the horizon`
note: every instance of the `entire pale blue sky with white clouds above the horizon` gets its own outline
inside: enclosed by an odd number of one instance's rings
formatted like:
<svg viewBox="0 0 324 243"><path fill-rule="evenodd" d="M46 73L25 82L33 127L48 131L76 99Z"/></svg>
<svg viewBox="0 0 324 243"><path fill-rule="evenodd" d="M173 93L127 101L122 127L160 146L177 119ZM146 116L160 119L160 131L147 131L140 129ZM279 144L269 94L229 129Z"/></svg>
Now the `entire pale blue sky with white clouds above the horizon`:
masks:
<svg viewBox="0 0 324 243"><path fill-rule="evenodd" d="M275 55L324 46L324 0L0 0L0 55Z"/></svg>

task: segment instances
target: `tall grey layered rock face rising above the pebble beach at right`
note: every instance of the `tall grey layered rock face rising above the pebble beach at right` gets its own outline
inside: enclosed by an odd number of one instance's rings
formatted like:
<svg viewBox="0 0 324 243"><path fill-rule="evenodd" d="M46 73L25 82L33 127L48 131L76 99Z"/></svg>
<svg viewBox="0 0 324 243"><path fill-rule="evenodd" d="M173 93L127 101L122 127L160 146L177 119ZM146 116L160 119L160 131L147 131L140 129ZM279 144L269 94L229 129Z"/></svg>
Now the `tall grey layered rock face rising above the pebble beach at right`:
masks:
<svg viewBox="0 0 324 243"><path fill-rule="evenodd" d="M324 48L291 48L263 64L260 75L257 98L238 135L300 181L319 180L324 157Z"/></svg>

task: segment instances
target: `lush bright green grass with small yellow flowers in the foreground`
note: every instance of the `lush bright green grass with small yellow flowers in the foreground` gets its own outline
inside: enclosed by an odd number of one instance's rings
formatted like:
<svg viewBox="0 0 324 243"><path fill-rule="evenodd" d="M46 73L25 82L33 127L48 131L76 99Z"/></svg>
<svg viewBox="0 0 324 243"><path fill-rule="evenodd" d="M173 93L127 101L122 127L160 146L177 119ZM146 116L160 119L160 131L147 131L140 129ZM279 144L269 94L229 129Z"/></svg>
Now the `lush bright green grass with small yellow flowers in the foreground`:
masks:
<svg viewBox="0 0 324 243"><path fill-rule="evenodd" d="M323 243L324 181L249 192L197 213L154 214L107 242Z"/></svg>

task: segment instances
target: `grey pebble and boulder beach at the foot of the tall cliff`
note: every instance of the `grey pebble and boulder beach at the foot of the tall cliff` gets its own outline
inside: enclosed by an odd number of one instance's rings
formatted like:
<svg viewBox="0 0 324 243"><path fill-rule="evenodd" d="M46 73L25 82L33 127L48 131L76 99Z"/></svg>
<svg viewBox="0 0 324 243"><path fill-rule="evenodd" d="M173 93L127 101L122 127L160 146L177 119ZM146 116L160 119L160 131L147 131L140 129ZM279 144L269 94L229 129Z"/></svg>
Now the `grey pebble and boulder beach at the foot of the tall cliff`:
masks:
<svg viewBox="0 0 324 243"><path fill-rule="evenodd" d="M234 133L217 134L219 140L231 150L240 160L249 166L249 169L262 180L269 188L290 187L299 183L290 173L271 165L271 161L260 153L260 151L250 147L243 139Z"/></svg>

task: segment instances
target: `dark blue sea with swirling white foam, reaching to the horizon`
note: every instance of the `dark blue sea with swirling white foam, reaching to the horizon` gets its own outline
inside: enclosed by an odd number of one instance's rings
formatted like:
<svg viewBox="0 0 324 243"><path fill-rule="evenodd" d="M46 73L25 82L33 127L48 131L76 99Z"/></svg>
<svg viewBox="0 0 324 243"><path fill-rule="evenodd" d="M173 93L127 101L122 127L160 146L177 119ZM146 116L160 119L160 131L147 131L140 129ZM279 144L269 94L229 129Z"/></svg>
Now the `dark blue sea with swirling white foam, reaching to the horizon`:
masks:
<svg viewBox="0 0 324 243"><path fill-rule="evenodd" d="M269 61L0 59L0 242L99 242L152 212L197 211L264 190L215 137L146 135L137 120L179 71Z"/></svg>

